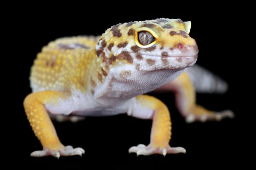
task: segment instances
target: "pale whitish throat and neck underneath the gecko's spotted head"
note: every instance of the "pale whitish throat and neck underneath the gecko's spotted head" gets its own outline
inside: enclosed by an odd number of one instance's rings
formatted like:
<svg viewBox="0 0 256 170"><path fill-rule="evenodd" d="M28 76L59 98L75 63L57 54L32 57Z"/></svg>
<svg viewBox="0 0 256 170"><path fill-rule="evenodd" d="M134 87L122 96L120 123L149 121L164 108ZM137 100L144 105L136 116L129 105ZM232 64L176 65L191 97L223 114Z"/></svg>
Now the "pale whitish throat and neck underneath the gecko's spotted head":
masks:
<svg viewBox="0 0 256 170"><path fill-rule="evenodd" d="M123 71L121 67L111 68L105 82L96 88L94 96L104 103L122 102L153 91L184 72L184 69L137 71L133 67L134 65L130 65L130 69L126 71Z"/></svg>

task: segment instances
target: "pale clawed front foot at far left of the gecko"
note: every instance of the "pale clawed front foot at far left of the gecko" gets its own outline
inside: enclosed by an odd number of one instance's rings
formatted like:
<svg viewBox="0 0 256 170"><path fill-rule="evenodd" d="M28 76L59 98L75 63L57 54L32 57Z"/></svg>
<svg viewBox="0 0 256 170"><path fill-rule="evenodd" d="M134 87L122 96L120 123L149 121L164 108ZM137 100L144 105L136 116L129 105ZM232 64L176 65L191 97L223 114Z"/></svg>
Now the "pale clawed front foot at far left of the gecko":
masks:
<svg viewBox="0 0 256 170"><path fill-rule="evenodd" d="M59 158L60 156L73 156L73 155L80 155L82 156L84 154L84 149L81 147L73 148L72 146L66 146L61 150L55 151L55 150L37 150L30 154L30 156L34 157L42 157L42 156L54 156L56 158Z"/></svg>

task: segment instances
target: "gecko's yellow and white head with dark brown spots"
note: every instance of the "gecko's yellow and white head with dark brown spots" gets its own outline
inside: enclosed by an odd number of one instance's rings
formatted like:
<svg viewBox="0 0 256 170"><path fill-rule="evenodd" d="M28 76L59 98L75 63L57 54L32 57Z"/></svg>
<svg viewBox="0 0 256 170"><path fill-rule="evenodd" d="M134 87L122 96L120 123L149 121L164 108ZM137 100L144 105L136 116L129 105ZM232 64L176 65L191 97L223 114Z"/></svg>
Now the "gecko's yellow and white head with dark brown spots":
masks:
<svg viewBox="0 0 256 170"><path fill-rule="evenodd" d="M191 22L164 18L117 24L102 34L96 55L106 67L181 70L197 60L198 46L189 37L190 27Z"/></svg>

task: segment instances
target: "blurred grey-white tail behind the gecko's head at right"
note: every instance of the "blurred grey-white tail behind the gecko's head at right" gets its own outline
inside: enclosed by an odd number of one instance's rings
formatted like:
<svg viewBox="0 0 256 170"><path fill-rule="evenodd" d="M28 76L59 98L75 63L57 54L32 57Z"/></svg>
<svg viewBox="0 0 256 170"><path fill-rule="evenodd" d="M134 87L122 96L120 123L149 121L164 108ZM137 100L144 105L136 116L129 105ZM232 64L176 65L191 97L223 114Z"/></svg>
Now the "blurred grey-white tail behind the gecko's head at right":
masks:
<svg viewBox="0 0 256 170"><path fill-rule="evenodd" d="M224 94L228 83L198 64L186 69L197 93Z"/></svg>

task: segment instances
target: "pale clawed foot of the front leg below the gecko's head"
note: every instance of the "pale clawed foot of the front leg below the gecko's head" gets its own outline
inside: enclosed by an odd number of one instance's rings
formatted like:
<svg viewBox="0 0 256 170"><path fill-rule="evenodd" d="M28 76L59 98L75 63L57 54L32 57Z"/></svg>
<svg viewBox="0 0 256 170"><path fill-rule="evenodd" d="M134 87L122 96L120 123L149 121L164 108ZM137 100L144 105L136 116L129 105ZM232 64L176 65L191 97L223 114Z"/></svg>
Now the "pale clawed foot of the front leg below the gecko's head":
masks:
<svg viewBox="0 0 256 170"><path fill-rule="evenodd" d="M160 147L151 147L149 144L148 146L145 146L144 144L139 144L138 146L130 147L128 150L129 153L137 153L137 156L139 155L153 155L153 154L161 154L163 156L166 156L168 153L186 153L186 149L183 147L170 147L169 145L166 148L160 148Z"/></svg>

